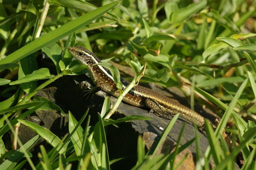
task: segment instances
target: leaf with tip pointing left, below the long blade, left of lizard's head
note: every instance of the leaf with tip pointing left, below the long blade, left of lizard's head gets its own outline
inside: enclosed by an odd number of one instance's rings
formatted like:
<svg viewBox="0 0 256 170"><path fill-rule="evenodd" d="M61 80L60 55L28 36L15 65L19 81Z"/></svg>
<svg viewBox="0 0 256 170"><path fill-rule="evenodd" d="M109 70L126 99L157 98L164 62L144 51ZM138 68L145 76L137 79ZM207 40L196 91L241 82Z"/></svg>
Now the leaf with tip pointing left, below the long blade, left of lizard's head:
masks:
<svg viewBox="0 0 256 170"><path fill-rule="evenodd" d="M39 70L33 71L32 74L28 74L21 79L11 82L10 85L17 85L20 83L31 82L35 80L41 80L41 79L49 79L52 77L54 77L54 75L50 74L48 68L40 68Z"/></svg>

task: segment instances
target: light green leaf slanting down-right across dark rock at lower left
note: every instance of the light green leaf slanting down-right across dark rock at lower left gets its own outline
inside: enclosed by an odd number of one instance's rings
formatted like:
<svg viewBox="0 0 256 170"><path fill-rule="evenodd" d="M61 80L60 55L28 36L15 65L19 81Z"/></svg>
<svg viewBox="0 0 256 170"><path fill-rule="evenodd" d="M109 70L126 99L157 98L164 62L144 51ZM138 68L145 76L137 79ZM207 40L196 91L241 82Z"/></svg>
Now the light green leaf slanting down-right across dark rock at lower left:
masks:
<svg viewBox="0 0 256 170"><path fill-rule="evenodd" d="M56 147L56 149L58 150L58 152L60 154L63 154L66 152L67 146L66 145L64 146L61 139L59 139L58 136L53 134L47 128L37 125L35 123L29 122L29 121L26 121L26 120L18 120L18 121L20 123L26 125L30 129L32 129L36 133L38 133L38 135L40 135L42 138L44 138L50 145L52 145L52 147Z"/></svg>

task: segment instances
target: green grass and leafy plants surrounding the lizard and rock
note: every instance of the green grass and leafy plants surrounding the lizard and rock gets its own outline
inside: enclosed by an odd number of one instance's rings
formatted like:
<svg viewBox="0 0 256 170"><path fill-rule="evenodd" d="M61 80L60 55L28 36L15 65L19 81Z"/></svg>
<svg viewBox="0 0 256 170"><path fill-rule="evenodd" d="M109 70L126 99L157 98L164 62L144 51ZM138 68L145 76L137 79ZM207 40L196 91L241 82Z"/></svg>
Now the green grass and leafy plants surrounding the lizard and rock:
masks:
<svg viewBox="0 0 256 170"><path fill-rule="evenodd" d="M122 158L109 160L107 126L147 119L141 116L109 119L110 106L106 98L99 121L93 127L89 126L88 111L79 122L68 113L70 135L64 139L23 120L38 109L57 110L64 115L55 103L32 97L64 75L84 73L86 66L72 61L67 51L74 45L84 46L101 59L115 56L116 61L130 65L136 73L130 88L138 81L154 82L163 87L177 86L185 95L191 96L191 103L204 101L206 107L215 105L219 108L216 114L221 116L221 122L216 130L206 122L209 147L202 157L197 151L196 169L209 169L211 158L216 169L233 169L240 152L244 160L241 169L256 169L254 1L47 2L14 0L0 3L0 169L23 169L26 162L32 169L71 169L74 164L78 164L78 169L110 169L111 164ZM41 17L44 15L46 18ZM50 74L48 68L38 68L36 58L42 52L52 60L56 75ZM119 75L112 65L103 65ZM118 78L115 76L117 82ZM44 83L38 85L38 80L44 80ZM121 100L122 95L115 106ZM193 142L198 146L196 136L177 146L172 153L155 154L176 119L177 116L147 153L139 137L134 170L175 169L175 156ZM82 122L86 122L85 127L81 126ZM227 127L230 122L233 127ZM17 138L22 147L16 151L6 150L3 135L9 130L15 133L13 127L20 123L52 144L52 150L46 151L41 146L41 152L33 155L39 158L38 164L33 164L29 153L39 140L38 136L23 145ZM231 148L221 135L224 128L233 140Z"/></svg>

